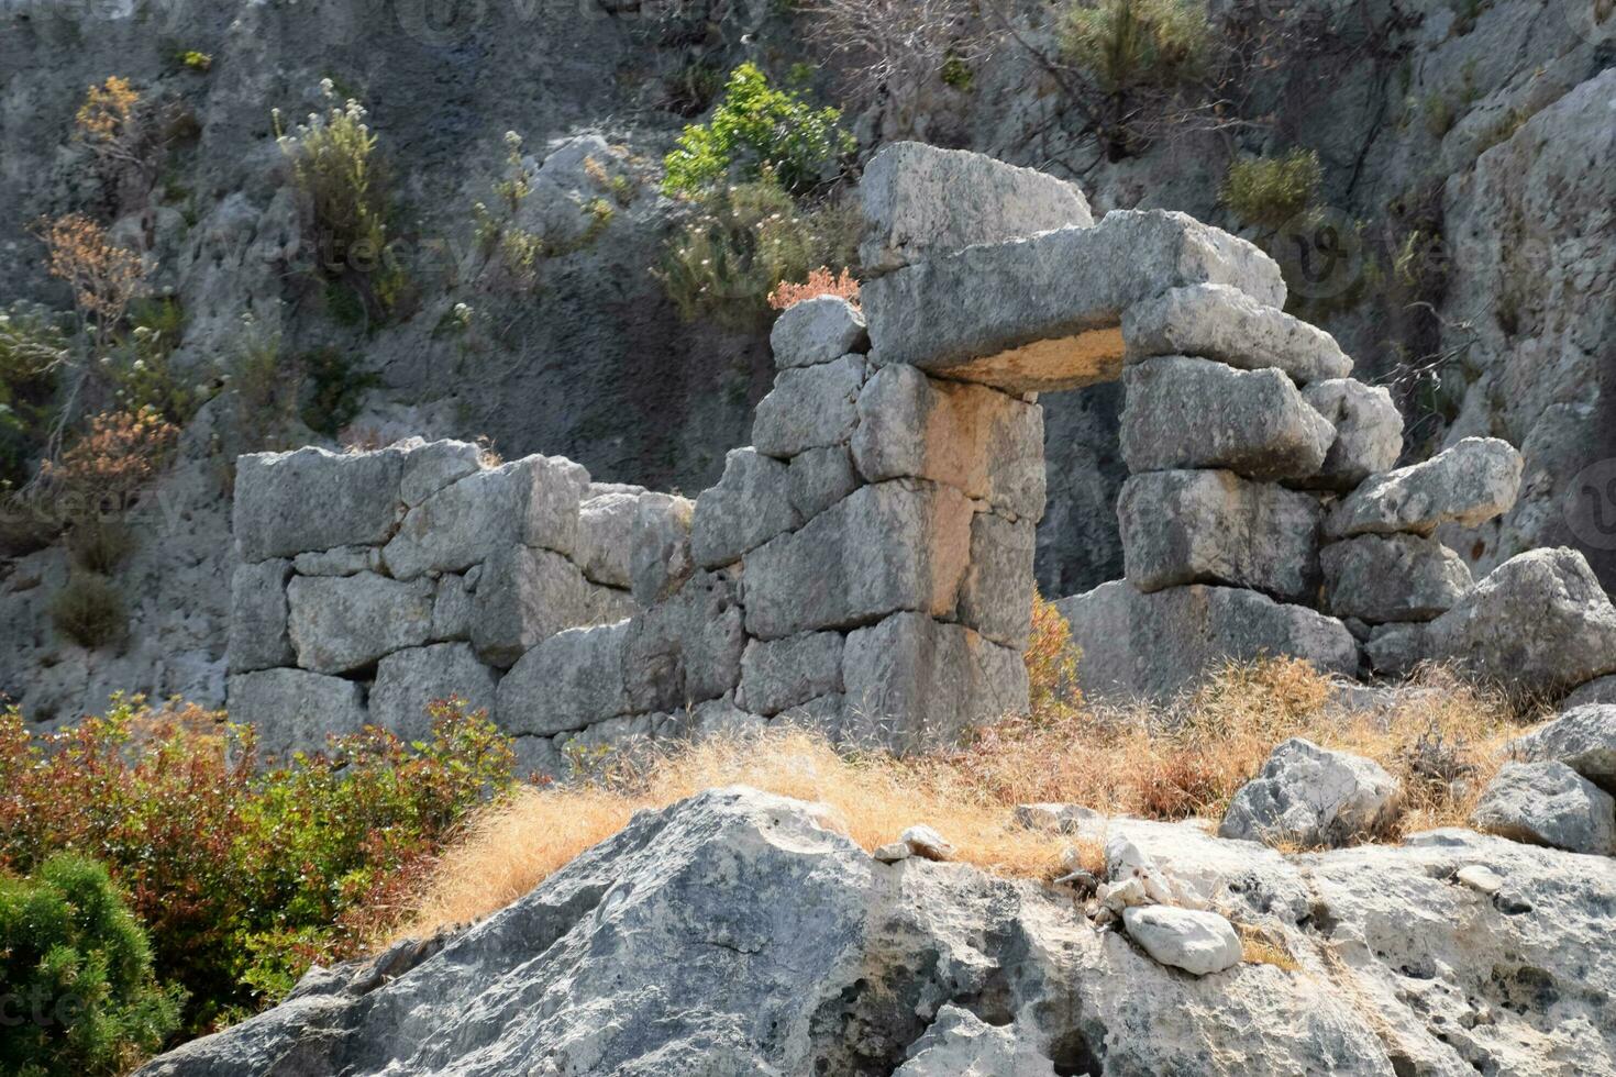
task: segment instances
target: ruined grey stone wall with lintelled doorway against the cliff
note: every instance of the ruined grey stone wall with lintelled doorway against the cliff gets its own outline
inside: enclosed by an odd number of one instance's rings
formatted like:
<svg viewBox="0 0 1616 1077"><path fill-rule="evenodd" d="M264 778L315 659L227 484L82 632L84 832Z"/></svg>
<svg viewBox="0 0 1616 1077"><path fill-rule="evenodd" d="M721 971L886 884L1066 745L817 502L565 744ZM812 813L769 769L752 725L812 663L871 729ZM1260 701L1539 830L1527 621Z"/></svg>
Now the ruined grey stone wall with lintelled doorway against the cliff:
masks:
<svg viewBox="0 0 1616 1077"><path fill-rule="evenodd" d="M753 444L693 502L452 441L242 457L233 715L280 754L367 722L420 736L459 696L549 773L781 722L949 743L1028 702L1037 394L1118 378L1126 580L1060 602L1084 691L1159 699L1257 654L1477 659L1553 691L1616 672L1580 555L1472 586L1432 538L1504 512L1519 454L1467 439L1393 470L1390 394L1283 313L1252 244L1181 213L1094 223L1071 184L916 144L871 161L863 202L861 310L781 315ZM1496 631L1521 602L1553 622L1530 654ZM1566 646L1572 667L1543 654Z"/></svg>

